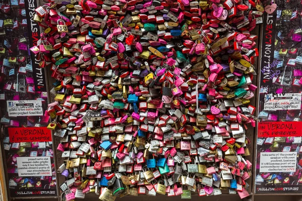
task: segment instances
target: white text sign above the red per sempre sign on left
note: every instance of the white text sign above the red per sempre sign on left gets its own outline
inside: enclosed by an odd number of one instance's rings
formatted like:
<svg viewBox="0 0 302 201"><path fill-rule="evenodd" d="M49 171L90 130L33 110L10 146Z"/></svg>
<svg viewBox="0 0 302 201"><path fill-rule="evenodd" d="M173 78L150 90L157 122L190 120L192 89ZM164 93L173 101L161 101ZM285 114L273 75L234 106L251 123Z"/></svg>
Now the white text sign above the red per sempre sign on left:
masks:
<svg viewBox="0 0 302 201"><path fill-rule="evenodd" d="M41 100L8 100L9 117L43 116Z"/></svg>

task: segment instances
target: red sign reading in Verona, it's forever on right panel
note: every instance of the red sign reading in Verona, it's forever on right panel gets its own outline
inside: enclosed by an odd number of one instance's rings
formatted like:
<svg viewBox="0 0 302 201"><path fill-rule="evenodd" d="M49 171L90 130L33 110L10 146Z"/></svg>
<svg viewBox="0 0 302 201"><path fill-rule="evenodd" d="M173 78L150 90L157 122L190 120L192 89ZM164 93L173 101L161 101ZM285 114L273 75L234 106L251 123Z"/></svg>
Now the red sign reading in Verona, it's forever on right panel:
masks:
<svg viewBox="0 0 302 201"><path fill-rule="evenodd" d="M301 137L302 122L260 122L258 137Z"/></svg>

